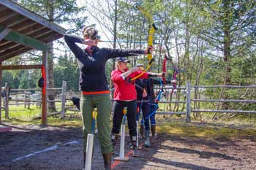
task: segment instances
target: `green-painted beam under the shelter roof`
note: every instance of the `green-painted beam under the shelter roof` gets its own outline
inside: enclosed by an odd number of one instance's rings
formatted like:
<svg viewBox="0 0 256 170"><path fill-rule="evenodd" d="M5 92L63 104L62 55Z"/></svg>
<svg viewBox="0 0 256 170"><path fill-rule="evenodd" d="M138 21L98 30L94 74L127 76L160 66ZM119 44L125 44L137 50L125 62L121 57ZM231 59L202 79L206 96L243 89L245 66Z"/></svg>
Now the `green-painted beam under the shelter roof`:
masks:
<svg viewBox="0 0 256 170"><path fill-rule="evenodd" d="M0 32L4 31L4 27L0 26ZM16 42L20 45L25 45L27 47L32 47L36 50L41 50L41 51L48 51L48 45L44 42L40 42L37 39L33 39L30 36L25 36L23 34L20 34L16 31L10 31L7 36L4 37L4 39L7 39L12 42Z"/></svg>

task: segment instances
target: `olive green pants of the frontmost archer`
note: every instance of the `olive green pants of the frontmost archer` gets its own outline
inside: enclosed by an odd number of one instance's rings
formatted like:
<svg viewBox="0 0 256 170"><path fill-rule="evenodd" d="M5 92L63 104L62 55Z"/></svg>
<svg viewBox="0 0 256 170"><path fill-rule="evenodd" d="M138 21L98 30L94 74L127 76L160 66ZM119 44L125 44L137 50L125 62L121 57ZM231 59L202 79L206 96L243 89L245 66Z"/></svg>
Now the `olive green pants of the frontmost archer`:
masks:
<svg viewBox="0 0 256 170"><path fill-rule="evenodd" d="M83 118L83 151L86 152L87 135L91 134L92 112L97 108L97 129L102 153L112 152L110 136L111 100L109 94L82 95L81 112Z"/></svg>

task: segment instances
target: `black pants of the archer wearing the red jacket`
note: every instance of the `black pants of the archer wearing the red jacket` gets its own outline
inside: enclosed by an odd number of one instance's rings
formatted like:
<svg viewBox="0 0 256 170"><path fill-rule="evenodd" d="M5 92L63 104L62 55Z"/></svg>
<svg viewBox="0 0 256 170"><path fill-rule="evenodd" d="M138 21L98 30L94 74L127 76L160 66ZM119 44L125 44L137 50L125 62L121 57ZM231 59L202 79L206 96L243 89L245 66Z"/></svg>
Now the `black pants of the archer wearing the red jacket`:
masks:
<svg viewBox="0 0 256 170"><path fill-rule="evenodd" d="M136 132L136 102L135 101L114 101L113 104L113 128L112 134L119 134L123 120L123 110L127 107L127 123L129 136L137 136Z"/></svg>

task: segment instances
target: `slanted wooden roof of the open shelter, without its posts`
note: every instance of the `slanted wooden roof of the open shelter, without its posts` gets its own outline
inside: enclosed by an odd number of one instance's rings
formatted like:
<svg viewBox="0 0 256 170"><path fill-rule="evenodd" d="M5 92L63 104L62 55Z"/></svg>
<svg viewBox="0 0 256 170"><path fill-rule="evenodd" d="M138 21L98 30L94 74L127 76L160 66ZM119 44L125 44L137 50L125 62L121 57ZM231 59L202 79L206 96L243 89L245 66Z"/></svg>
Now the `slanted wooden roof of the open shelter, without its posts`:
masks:
<svg viewBox="0 0 256 170"><path fill-rule="evenodd" d="M13 1L1 0L0 62L32 49L47 51L46 43L61 38L65 31Z"/></svg>

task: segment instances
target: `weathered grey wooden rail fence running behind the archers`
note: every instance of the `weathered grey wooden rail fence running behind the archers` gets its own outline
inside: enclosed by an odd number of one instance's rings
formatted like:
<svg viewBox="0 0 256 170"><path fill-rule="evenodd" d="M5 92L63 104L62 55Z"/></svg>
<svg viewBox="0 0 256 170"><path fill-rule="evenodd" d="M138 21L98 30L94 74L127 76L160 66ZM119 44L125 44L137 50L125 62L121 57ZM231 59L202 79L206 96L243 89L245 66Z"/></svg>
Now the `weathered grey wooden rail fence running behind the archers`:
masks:
<svg viewBox="0 0 256 170"><path fill-rule="evenodd" d="M48 90L61 90L61 99L59 100L48 100L48 102L61 102L61 118L64 117L65 110L69 110L72 108L65 108L66 107L66 101L71 100L71 98L66 97L66 88L67 88L67 82L62 82L62 88L50 88ZM182 90L186 96L186 100L184 101L159 101L159 104L185 104L185 111L181 112L156 112L159 115L187 115L187 122L190 122L191 120L191 112L222 112L222 113L247 113L247 114L255 114L255 110L222 110L222 109L192 109L191 105L192 103L200 103L200 102L234 102L234 103L248 103L248 104L255 104L256 100L255 99L208 99L208 98L192 98L191 94L195 90L192 90L193 88L256 88L256 85L191 85L190 82L187 82L186 87L178 87L175 88L175 90ZM155 89L160 89L160 88L155 88ZM165 90L168 89L173 89L173 87L167 87L164 88ZM30 91L30 90L39 90L39 89L12 89L13 93L11 94L24 94L21 93ZM15 105L14 103L9 103L13 101L20 101L23 102L22 104L31 104L31 102L40 102L37 101L37 98L13 98L9 101L9 98L5 98L4 102L4 107L2 109L5 109L6 112L9 111L8 105ZM25 103L24 103L25 102ZM6 114L8 116L8 114Z"/></svg>

